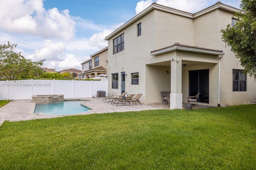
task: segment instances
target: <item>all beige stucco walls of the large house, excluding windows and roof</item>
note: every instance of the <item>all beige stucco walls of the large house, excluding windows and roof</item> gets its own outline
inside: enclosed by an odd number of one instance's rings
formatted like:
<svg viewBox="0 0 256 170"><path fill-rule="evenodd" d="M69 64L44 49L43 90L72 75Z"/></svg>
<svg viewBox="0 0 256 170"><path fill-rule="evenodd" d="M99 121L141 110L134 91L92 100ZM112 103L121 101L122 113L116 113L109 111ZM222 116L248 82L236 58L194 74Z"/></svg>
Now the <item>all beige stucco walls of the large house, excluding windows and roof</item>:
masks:
<svg viewBox="0 0 256 170"><path fill-rule="evenodd" d="M175 42L210 49L223 50L221 59L221 106L230 104L246 104L256 102L256 84L254 79L248 77L247 92L232 92L232 69L243 69L239 61L234 58L230 47L222 42L220 30L231 23L233 14L221 9L213 10L194 19L152 10L139 20L135 21L108 40L108 69L109 92L121 93L121 72L126 72L126 92L142 93L143 103L161 102L160 91L167 89L170 84L163 70L167 70L164 62L172 58L183 62L195 61L182 68L182 94L183 102L188 96L188 71L209 69L210 76L210 106L218 105L218 55L206 55L194 52L169 52L162 55L151 56L150 51L159 49ZM142 35L137 37L137 24L142 23ZM124 33L124 51L113 55L113 39ZM154 63L161 63L158 66ZM148 65L146 65L148 64ZM170 70L170 67L169 67ZM133 72L139 72L139 85L131 85ZM119 87L112 89L111 74L119 74ZM157 76L158 75L158 76ZM169 77L170 78L170 77ZM157 81L154 82L154 79ZM164 80L162 80L164 79ZM157 84L157 82L160 83ZM164 81L164 82L163 82ZM155 97L158 96L158 97ZM207 105L207 104L206 104Z"/></svg>

